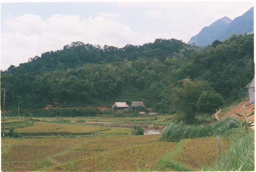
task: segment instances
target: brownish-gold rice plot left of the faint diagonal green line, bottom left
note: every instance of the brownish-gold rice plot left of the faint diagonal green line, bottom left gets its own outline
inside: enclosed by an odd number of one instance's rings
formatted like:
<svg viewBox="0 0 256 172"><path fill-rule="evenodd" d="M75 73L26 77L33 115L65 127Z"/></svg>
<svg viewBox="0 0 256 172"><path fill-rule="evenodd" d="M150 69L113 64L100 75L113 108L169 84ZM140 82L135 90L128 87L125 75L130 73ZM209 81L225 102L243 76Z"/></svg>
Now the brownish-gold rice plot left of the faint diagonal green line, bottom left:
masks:
<svg viewBox="0 0 256 172"><path fill-rule="evenodd" d="M37 171L42 161L51 155L65 151L83 138L12 139L5 138L1 146L7 150L1 153L2 171Z"/></svg>

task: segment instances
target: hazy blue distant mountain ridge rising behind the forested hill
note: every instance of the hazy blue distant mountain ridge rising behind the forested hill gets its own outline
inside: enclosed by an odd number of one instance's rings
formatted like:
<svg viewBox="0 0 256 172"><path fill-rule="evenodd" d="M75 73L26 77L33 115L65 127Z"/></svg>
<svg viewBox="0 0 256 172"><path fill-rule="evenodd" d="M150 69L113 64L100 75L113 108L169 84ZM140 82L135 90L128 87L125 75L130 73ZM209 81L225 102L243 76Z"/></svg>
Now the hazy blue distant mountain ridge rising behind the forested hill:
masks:
<svg viewBox="0 0 256 172"><path fill-rule="evenodd" d="M246 11L242 16L234 20L222 17L210 26L204 27L197 35L191 37L188 44L196 44L204 47L212 44L215 40L224 41L231 35L254 33L253 29L253 7Z"/></svg>

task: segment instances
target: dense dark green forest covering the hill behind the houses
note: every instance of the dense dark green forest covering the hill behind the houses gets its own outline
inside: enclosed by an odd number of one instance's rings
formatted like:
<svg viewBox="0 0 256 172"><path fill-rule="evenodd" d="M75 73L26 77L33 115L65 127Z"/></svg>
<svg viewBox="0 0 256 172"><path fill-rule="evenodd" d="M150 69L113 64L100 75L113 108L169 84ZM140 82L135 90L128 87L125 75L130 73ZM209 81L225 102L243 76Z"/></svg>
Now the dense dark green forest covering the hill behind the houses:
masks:
<svg viewBox="0 0 256 172"><path fill-rule="evenodd" d="M5 109L17 109L18 97L20 109L29 110L54 102L111 106L147 99L146 107L155 112L190 113L203 91L214 90L225 102L247 96L253 58L253 34L232 35L207 47L176 39L123 48L73 42L1 71L1 88L8 87ZM1 108L3 96L1 89Z"/></svg>

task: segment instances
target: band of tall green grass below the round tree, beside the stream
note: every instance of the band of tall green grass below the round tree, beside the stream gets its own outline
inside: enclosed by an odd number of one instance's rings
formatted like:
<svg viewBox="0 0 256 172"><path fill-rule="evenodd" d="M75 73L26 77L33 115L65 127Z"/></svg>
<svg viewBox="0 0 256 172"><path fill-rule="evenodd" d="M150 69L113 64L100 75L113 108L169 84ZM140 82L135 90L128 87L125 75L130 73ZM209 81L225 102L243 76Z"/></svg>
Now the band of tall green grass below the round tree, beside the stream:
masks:
<svg viewBox="0 0 256 172"><path fill-rule="evenodd" d="M181 139L216 136L233 128L234 126L236 126L236 122L230 117L212 125L205 124L195 126L171 123L163 130L160 140L177 142Z"/></svg>

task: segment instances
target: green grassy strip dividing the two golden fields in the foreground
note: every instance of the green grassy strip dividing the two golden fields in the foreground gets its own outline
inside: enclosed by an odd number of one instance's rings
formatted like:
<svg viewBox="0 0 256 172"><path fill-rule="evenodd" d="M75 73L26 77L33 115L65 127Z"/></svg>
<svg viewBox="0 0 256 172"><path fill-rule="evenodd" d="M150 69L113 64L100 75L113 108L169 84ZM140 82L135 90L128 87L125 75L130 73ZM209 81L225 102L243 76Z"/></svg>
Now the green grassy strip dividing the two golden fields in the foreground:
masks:
<svg viewBox="0 0 256 172"><path fill-rule="evenodd" d="M153 167L153 171L194 171L185 164L174 161L173 157L183 149L183 145L188 139L181 140L170 153L159 158Z"/></svg>

